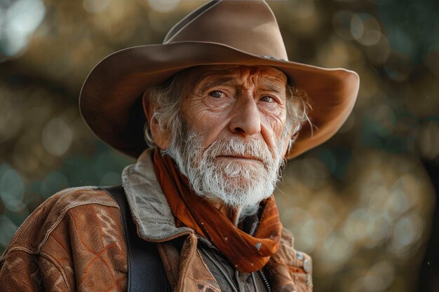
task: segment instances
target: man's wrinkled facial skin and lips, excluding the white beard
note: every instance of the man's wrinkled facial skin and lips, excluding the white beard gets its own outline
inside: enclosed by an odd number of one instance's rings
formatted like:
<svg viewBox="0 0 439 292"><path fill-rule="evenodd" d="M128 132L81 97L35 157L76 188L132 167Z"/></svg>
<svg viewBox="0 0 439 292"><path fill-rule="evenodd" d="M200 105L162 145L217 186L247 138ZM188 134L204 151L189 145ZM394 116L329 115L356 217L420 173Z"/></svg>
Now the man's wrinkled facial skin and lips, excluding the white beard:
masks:
<svg viewBox="0 0 439 292"><path fill-rule="evenodd" d="M285 74L273 67L236 66L200 67L192 74L196 82L182 101L182 116L204 137L204 147L232 136L264 141L272 150L279 146L286 123ZM259 163L235 156L217 159Z"/></svg>

